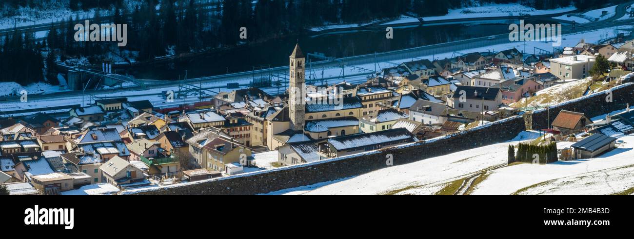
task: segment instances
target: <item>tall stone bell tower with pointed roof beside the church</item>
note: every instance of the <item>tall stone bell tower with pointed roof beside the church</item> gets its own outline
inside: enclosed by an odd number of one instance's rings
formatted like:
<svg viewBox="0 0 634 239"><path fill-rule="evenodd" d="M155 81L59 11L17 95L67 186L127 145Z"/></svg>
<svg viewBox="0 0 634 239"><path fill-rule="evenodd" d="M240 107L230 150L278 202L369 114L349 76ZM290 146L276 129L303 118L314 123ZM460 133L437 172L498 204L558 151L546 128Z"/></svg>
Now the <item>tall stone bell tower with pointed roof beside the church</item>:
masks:
<svg viewBox="0 0 634 239"><path fill-rule="evenodd" d="M288 84L288 110L290 117L290 129L294 131L302 130L304 127L304 113L306 100L303 100L306 92L306 81L304 80L304 63L306 58L299 43L295 45L293 53L288 57L290 59L290 78Z"/></svg>

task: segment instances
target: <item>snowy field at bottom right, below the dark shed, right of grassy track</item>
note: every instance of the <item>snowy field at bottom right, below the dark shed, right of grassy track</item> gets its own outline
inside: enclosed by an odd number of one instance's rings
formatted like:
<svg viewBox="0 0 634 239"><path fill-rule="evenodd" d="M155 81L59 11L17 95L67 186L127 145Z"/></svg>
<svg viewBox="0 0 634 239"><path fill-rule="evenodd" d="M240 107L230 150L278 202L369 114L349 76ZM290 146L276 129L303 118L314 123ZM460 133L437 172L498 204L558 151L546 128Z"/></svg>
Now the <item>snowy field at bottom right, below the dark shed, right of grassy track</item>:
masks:
<svg viewBox="0 0 634 239"><path fill-rule="evenodd" d="M547 165L519 164L493 171L475 187L474 194L596 195L619 193L634 187L634 136L619 138L618 148L587 160ZM557 148L562 148L558 143ZM551 181L552 180L552 181ZM536 186L533 186L538 184Z"/></svg>

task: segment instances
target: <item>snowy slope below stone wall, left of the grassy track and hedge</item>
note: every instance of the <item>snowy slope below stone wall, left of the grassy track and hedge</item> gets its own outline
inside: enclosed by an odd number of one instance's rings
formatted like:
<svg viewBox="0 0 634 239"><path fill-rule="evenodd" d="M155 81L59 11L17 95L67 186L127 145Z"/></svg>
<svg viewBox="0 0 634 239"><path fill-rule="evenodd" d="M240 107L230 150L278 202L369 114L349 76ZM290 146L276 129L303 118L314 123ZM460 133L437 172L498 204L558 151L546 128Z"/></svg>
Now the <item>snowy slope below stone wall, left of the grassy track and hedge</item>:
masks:
<svg viewBox="0 0 634 239"><path fill-rule="evenodd" d="M535 132L522 132L511 142L536 139L538 136L539 134ZM353 178L275 191L270 194L374 195L404 188L411 188L407 191L411 194L434 194L443 188L445 183L469 176L482 169L505 165L509 143L498 143L441 157L427 158ZM394 162L398 162L398 158L394 158Z"/></svg>

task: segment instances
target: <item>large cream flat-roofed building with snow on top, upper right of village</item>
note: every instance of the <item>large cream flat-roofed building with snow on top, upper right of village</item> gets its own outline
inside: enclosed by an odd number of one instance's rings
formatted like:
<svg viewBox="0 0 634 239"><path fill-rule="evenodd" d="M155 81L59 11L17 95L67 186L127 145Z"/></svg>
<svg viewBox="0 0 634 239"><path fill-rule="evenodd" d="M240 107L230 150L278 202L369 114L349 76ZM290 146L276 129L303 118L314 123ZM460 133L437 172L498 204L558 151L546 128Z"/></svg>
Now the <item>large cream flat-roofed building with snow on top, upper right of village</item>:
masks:
<svg viewBox="0 0 634 239"><path fill-rule="evenodd" d="M590 74L595 63L594 56L576 55L550 59L550 72L560 79L583 79Z"/></svg>

